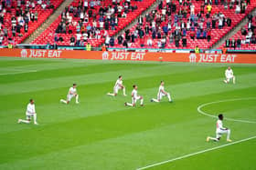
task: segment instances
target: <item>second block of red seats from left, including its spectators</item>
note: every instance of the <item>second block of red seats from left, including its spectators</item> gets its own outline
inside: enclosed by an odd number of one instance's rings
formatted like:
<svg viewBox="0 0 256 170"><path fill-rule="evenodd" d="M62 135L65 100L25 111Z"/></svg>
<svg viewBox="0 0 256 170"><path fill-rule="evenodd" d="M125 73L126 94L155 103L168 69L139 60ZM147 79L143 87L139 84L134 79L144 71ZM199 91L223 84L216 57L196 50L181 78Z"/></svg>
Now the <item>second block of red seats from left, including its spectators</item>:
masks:
<svg viewBox="0 0 256 170"><path fill-rule="evenodd" d="M154 2L75 0L32 44L101 45L107 35L116 35Z"/></svg>

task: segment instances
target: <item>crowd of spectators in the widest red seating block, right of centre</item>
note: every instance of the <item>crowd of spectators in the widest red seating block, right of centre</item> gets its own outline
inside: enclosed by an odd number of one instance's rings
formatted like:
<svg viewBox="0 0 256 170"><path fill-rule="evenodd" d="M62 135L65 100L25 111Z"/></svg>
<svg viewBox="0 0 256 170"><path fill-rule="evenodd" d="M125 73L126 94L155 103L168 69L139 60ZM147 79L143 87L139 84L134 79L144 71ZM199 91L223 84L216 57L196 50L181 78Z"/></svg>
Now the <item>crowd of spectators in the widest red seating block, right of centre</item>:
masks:
<svg viewBox="0 0 256 170"><path fill-rule="evenodd" d="M215 0L214 3L224 7L228 5L224 0ZM250 0L231 0L227 10L240 6L242 10L235 10L234 15L244 13L248 3L250 4ZM198 7L198 4L201 5ZM126 30L123 35L119 35L117 45L129 47L139 42L141 47L151 47L156 42L159 48L165 48L166 44L186 47L189 38L206 39L209 42L212 29L222 29L232 24L230 17L219 10L212 12L212 8L211 0L179 0L178 3L174 0L161 1L157 9L138 18L135 29ZM114 46L113 43L105 44Z"/></svg>

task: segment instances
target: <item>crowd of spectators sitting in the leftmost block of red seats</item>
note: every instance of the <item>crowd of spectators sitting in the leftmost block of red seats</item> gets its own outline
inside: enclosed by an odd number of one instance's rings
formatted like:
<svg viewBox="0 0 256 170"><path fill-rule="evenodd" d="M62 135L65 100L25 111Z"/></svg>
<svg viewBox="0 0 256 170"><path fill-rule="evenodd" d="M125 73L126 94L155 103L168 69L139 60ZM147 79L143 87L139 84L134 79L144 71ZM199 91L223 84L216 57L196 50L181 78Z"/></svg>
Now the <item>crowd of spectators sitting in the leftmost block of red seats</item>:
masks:
<svg viewBox="0 0 256 170"><path fill-rule="evenodd" d="M50 0L0 0L0 45L15 44L27 34L29 23L37 23L37 10L54 8Z"/></svg>

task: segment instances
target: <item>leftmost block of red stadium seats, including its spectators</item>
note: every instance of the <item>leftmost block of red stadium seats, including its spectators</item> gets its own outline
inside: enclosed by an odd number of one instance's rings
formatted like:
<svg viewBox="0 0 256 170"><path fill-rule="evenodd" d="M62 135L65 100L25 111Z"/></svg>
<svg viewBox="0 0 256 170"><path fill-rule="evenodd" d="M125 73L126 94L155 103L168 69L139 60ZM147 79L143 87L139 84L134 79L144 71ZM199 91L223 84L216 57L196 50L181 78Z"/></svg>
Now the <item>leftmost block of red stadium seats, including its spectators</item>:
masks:
<svg viewBox="0 0 256 170"><path fill-rule="evenodd" d="M0 0L0 45L20 44L63 0Z"/></svg>

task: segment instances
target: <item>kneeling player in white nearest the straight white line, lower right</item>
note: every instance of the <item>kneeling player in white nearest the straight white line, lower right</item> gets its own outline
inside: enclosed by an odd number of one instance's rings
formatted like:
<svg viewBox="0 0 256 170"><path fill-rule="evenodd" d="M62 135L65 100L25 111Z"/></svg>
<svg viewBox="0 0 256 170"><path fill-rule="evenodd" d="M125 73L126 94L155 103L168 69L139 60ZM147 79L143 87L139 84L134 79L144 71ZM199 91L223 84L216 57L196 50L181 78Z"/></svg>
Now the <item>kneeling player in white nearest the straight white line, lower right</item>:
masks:
<svg viewBox="0 0 256 170"><path fill-rule="evenodd" d="M230 129L227 128L227 127L223 127L223 124L222 124L224 116L222 114L219 114L218 117L219 117L219 120L217 121L217 125L216 125L216 137L208 136L207 137L207 142L209 140L213 140L213 141L218 142L221 135L223 135L223 134L227 134L227 141L232 142L229 138L230 137L230 132L231 132Z"/></svg>

